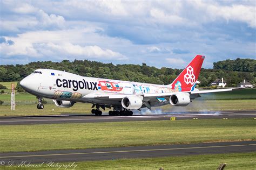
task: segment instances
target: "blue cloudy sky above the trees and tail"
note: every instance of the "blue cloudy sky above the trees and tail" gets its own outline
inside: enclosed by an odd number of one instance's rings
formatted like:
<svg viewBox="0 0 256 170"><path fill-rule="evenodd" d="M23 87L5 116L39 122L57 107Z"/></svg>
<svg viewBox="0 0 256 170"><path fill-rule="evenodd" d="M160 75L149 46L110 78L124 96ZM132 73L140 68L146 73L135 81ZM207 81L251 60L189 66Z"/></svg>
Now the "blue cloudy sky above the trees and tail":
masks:
<svg viewBox="0 0 256 170"><path fill-rule="evenodd" d="M256 58L256 1L0 0L0 65L93 60L184 68Z"/></svg>

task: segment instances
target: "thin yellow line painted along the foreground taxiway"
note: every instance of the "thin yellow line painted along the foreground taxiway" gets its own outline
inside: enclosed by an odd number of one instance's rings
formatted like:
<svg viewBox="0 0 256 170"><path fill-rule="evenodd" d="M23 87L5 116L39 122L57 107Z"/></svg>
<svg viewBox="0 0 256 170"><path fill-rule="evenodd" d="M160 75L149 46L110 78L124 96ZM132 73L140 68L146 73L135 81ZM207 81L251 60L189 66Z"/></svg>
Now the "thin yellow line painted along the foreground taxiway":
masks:
<svg viewBox="0 0 256 170"><path fill-rule="evenodd" d="M47 156L76 155L76 154L168 151L168 150L186 150L186 149L196 149L196 148L235 147L235 146L254 146L254 145L256 145L256 144L223 145L223 146L201 146L201 147L180 147L180 148L163 148L163 149L152 149L152 150L130 150L130 151L105 151L105 152L81 152L81 153L59 153L59 154L40 154L40 155L19 155L19 156L7 156L7 157L0 157L0 158L47 157Z"/></svg>

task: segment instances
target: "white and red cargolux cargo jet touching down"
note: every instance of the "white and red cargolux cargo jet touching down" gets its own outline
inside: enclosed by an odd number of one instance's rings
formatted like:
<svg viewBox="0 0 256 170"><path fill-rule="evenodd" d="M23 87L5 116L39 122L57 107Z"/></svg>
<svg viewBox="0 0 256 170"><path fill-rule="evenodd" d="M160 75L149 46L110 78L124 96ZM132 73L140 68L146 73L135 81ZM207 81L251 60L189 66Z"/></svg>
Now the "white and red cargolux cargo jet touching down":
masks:
<svg viewBox="0 0 256 170"><path fill-rule="evenodd" d="M205 56L197 55L168 85L84 77L53 69L37 69L21 82L23 89L37 96L38 109L42 98L51 98L57 107L69 108L76 102L92 103L92 114L102 115L100 108L113 108L109 115L132 116L132 109L171 104L185 107L203 93L231 91L240 88L198 90L196 82Z"/></svg>

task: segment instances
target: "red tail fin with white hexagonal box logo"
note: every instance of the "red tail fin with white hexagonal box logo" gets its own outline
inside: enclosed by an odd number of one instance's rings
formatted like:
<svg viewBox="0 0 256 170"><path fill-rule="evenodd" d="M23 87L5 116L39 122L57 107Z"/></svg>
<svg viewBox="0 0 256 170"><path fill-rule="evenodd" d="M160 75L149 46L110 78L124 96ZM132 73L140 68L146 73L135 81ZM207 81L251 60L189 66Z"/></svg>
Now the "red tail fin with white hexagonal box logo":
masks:
<svg viewBox="0 0 256 170"><path fill-rule="evenodd" d="M197 55L171 83L174 91L193 91L205 56Z"/></svg>

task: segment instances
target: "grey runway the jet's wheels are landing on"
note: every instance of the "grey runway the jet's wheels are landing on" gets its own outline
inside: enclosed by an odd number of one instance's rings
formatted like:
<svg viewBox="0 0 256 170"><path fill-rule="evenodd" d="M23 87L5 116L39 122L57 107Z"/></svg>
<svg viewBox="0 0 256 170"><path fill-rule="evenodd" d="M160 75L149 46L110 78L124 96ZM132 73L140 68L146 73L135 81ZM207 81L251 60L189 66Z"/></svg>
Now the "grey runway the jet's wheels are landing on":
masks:
<svg viewBox="0 0 256 170"><path fill-rule="evenodd" d="M170 117L179 119L209 119L209 118L256 118L256 110L242 111L207 111L207 112L165 112L158 115L140 116L93 116L93 115L56 115L56 116L23 116L0 117L0 125L23 124L55 124L55 123L98 123L98 122L127 122L127 121L161 121Z"/></svg>

